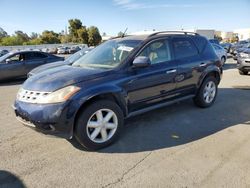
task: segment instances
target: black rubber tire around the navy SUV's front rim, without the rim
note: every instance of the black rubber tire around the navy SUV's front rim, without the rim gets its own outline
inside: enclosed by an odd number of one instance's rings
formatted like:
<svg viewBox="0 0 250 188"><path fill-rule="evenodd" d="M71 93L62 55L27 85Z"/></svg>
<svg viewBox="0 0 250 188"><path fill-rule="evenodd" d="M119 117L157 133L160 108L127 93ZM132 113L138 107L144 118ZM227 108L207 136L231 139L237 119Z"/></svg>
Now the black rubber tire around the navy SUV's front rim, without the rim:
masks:
<svg viewBox="0 0 250 188"><path fill-rule="evenodd" d="M92 141L88 136L87 124L92 115L100 109L109 109L112 110L118 120L118 126L116 128L115 133L113 136L102 143L96 143ZM75 137L77 141L87 150L98 150L108 145L112 144L117 138L119 137L120 133L122 132L124 123L124 115L120 107L113 101L110 100L98 100L89 106L87 106L83 111L80 112L76 125L75 125ZM100 133L99 133L100 134ZM98 135L99 135L98 134ZM99 135L101 136L101 135Z"/></svg>

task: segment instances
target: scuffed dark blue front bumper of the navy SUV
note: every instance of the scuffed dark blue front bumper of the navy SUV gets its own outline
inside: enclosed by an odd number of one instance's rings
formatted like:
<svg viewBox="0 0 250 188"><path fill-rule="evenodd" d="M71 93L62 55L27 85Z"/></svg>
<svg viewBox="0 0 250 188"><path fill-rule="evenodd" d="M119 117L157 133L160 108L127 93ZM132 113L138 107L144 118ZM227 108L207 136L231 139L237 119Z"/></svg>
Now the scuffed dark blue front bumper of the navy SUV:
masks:
<svg viewBox="0 0 250 188"><path fill-rule="evenodd" d="M17 119L24 125L44 134L70 139L73 136L74 112L70 111L68 105L15 101L13 109Z"/></svg>

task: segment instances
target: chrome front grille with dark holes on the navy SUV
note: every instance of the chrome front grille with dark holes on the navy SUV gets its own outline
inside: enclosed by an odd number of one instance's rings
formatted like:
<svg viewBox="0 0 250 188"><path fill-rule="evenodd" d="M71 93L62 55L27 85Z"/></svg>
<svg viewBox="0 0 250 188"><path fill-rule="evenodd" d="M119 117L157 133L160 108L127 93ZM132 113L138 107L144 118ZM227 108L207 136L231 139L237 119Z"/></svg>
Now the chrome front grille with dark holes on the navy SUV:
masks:
<svg viewBox="0 0 250 188"><path fill-rule="evenodd" d="M50 94L50 92L30 91L21 89L18 92L17 99L22 102L36 103L39 99L46 97L48 94Z"/></svg>

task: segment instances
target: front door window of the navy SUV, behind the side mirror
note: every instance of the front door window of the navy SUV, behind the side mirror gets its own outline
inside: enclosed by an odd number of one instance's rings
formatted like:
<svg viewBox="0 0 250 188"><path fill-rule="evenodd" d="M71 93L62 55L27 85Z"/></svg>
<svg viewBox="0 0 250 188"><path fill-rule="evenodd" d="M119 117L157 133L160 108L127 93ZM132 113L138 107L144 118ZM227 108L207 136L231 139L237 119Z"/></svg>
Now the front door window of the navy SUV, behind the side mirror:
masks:
<svg viewBox="0 0 250 188"><path fill-rule="evenodd" d="M171 60L169 41L160 40L149 44L139 56L149 57L152 64Z"/></svg>

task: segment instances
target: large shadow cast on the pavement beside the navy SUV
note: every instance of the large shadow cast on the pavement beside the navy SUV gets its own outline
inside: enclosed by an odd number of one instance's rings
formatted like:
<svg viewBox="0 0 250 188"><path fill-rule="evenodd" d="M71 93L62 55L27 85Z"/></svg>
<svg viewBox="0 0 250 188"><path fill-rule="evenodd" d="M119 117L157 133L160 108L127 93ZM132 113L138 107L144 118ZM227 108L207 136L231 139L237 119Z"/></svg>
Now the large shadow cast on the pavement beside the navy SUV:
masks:
<svg viewBox="0 0 250 188"><path fill-rule="evenodd" d="M249 124L250 106L245 102L249 99L248 90L221 88L210 108L197 108L188 100L130 118L120 139L98 152L134 153L170 148L195 142L231 126ZM85 151L77 141L71 143Z"/></svg>

